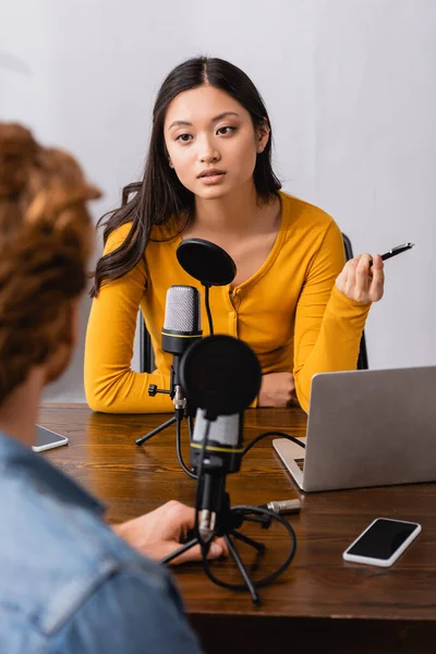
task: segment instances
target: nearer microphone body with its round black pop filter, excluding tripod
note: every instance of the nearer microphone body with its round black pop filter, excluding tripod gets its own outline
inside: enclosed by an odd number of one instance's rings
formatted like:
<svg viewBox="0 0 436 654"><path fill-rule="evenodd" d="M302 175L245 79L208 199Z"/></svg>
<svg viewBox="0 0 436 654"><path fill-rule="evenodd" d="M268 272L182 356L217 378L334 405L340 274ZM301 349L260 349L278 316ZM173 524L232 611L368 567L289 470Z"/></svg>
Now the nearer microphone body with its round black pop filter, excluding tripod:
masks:
<svg viewBox="0 0 436 654"><path fill-rule="evenodd" d="M261 389L262 370L246 343L219 335L185 351L180 375L186 397L198 408L190 453L198 477L198 533L208 543L217 517L229 508L226 477L241 468L243 411Z"/></svg>

